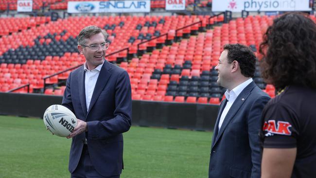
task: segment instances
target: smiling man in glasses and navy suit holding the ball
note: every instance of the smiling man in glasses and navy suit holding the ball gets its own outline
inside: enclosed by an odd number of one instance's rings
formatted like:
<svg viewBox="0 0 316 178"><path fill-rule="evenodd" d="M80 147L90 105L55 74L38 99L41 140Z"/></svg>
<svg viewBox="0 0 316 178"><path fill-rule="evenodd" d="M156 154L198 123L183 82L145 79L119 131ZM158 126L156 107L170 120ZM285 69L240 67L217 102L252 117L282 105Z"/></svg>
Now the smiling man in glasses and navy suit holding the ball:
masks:
<svg viewBox="0 0 316 178"><path fill-rule="evenodd" d="M106 32L85 27L78 36L84 66L67 79L62 105L78 118L72 138L71 178L119 178L123 169L123 132L132 117L129 76L105 60Z"/></svg>

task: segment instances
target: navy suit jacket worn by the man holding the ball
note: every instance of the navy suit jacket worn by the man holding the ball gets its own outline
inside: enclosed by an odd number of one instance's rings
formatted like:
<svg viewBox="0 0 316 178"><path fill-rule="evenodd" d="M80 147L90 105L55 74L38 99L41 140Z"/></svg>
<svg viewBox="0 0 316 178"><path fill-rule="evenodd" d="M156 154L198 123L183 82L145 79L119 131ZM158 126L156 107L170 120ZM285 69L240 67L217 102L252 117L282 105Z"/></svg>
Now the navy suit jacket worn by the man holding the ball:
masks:
<svg viewBox="0 0 316 178"><path fill-rule="evenodd" d="M72 71L67 79L62 105L78 119L87 122L88 132L72 138L69 171L80 160L83 141L87 138L91 162L105 177L122 173L123 132L129 130L132 99L129 76L122 68L105 60L99 73L87 111L84 66Z"/></svg>

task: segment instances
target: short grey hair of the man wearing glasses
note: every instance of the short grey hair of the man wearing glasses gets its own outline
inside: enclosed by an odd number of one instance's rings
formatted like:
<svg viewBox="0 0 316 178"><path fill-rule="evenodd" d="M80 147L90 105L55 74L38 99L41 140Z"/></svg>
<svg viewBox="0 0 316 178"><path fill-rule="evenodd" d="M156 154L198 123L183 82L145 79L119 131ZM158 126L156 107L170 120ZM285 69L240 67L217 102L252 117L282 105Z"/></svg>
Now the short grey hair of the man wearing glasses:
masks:
<svg viewBox="0 0 316 178"><path fill-rule="evenodd" d="M101 28L94 25L90 25L83 28L78 35L78 45L85 45L86 39L99 33L102 33L104 36L104 39L106 40L108 35L105 32L105 30L102 30Z"/></svg>

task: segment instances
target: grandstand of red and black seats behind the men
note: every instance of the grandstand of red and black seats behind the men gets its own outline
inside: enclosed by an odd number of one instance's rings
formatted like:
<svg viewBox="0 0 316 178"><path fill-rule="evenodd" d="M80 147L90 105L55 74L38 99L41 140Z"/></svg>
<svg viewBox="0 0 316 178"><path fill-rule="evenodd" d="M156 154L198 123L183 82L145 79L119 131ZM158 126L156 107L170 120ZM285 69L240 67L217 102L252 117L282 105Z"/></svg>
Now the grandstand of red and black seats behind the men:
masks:
<svg viewBox="0 0 316 178"><path fill-rule="evenodd" d="M151 6L161 8L164 2L154 1ZM209 2L200 1L200 6ZM52 9L64 9L61 4L67 5L67 0L47 3ZM106 59L128 72L133 100L218 105L226 89L217 85L214 67L223 46L241 43L257 53L273 18L231 19L229 12L214 16L76 16L55 21L50 17L0 18L0 91L63 95L70 71L85 62L77 51L77 35L94 24L109 34ZM260 77L259 61L254 81L274 97L274 87Z"/></svg>

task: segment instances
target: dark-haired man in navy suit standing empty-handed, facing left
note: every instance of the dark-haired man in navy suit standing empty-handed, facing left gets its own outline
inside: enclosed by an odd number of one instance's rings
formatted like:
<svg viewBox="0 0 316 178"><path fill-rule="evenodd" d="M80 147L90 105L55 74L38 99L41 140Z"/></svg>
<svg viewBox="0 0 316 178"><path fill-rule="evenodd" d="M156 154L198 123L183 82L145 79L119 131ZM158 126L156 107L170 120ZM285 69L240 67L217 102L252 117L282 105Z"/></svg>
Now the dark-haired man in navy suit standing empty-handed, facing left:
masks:
<svg viewBox="0 0 316 178"><path fill-rule="evenodd" d="M260 178L261 114L270 97L252 81L256 57L241 44L227 44L215 67L227 88L214 128L209 178Z"/></svg>

